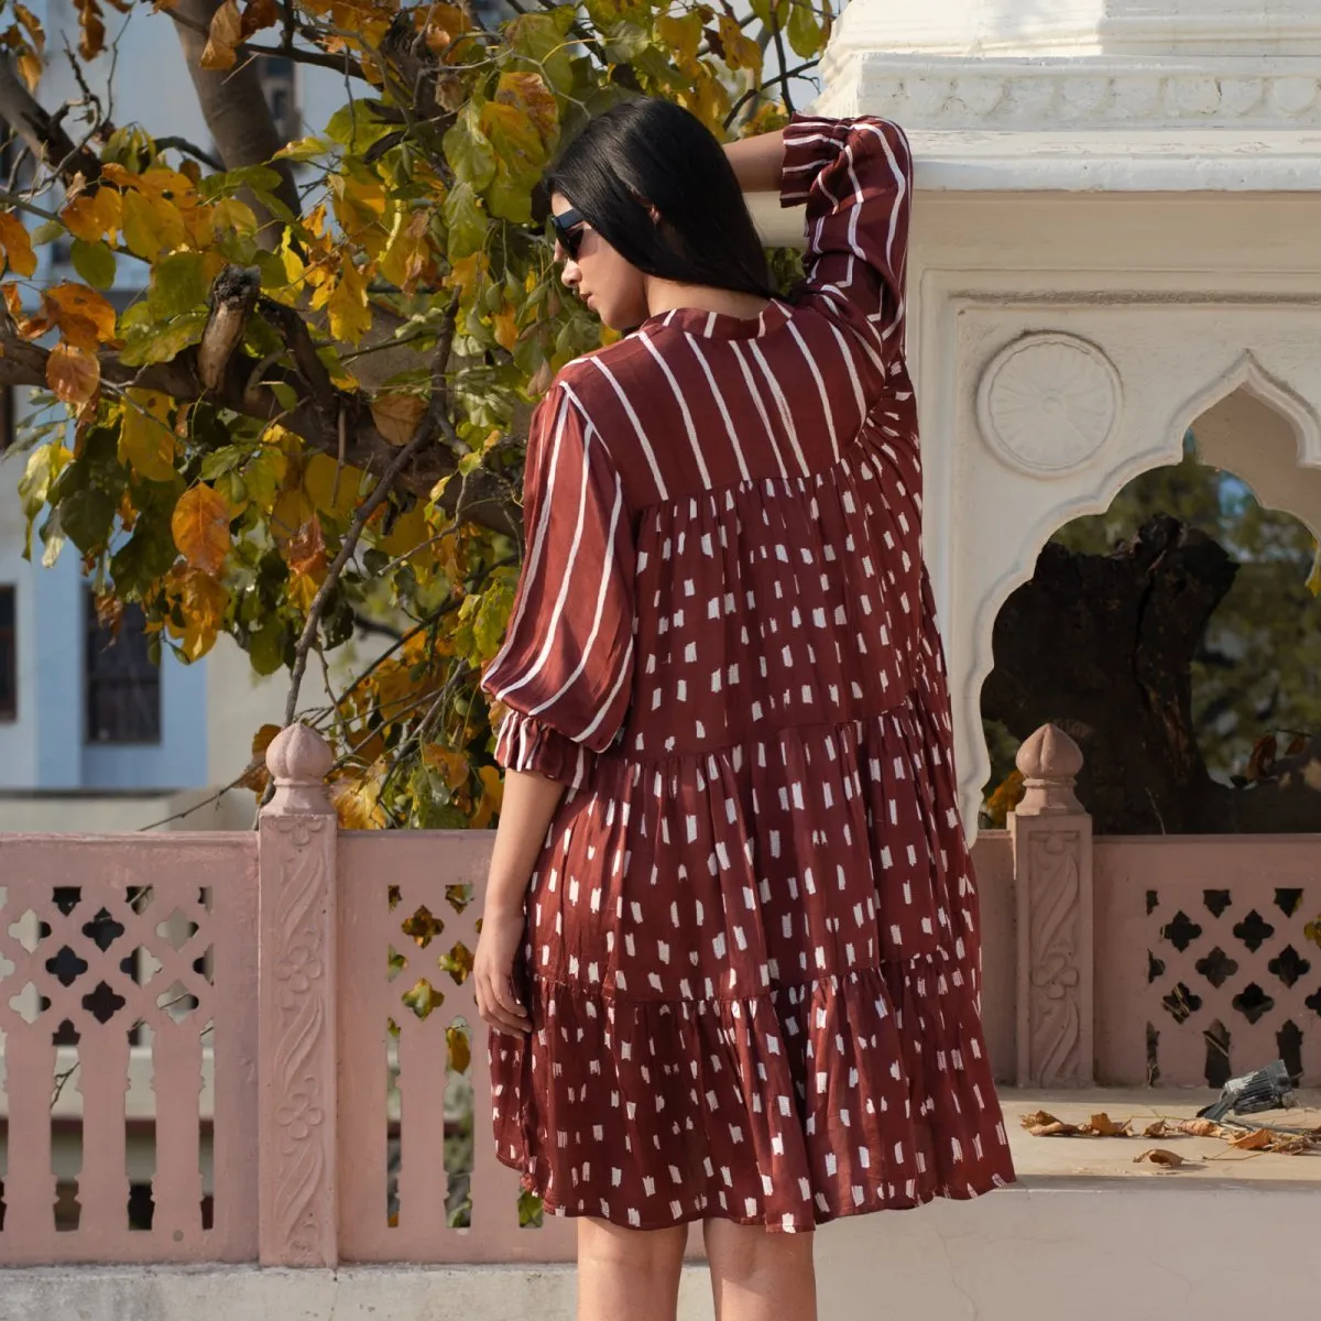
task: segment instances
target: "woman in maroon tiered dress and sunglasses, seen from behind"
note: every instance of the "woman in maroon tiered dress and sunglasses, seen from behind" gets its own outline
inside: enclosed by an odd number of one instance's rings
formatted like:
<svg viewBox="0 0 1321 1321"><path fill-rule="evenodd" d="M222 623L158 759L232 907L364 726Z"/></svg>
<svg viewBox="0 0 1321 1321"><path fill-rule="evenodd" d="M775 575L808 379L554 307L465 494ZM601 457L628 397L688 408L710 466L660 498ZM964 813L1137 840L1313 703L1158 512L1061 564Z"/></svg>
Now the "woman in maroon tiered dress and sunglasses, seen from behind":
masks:
<svg viewBox="0 0 1321 1321"><path fill-rule="evenodd" d="M806 202L774 297L740 189ZM477 950L495 1137L579 1221L583 1321L815 1317L811 1234L1013 1169L921 557L893 124L721 151L631 102L551 178L620 342L539 406L482 683L509 769Z"/></svg>

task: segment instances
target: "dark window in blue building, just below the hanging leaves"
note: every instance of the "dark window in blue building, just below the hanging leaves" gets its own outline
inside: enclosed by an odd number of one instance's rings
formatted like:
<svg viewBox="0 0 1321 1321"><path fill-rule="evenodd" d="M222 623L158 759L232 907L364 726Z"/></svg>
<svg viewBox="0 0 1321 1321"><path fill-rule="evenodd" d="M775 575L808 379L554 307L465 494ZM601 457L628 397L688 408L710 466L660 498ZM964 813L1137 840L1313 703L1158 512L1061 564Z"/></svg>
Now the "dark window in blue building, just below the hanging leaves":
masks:
<svg viewBox="0 0 1321 1321"><path fill-rule="evenodd" d="M141 608L125 605L118 634L96 616L87 589L87 741L159 744L161 672L147 646Z"/></svg>

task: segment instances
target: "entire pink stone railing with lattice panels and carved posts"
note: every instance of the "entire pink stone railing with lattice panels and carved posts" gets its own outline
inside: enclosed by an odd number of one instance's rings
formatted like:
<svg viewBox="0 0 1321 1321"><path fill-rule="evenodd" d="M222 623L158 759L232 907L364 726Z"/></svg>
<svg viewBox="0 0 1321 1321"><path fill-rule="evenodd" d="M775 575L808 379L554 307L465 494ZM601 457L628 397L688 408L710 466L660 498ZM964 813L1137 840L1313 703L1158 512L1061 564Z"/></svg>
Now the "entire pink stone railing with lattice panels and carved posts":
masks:
<svg viewBox="0 0 1321 1321"><path fill-rule="evenodd" d="M268 762L254 835L0 836L0 1263L568 1259L486 1119L491 835L338 831L301 727ZM1079 766L1040 731L976 844L997 1077L1321 1082L1321 840L1092 841Z"/></svg>

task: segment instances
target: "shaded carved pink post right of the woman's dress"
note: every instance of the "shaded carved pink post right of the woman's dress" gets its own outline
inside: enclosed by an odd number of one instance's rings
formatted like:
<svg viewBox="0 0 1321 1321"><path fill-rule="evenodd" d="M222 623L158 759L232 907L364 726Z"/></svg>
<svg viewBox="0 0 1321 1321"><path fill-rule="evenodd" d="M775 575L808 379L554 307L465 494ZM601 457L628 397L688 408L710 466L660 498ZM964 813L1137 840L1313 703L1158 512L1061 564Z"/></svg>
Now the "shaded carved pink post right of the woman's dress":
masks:
<svg viewBox="0 0 1321 1321"><path fill-rule="evenodd" d="M1042 725L1018 749L1009 818L1018 906L1018 1086L1092 1082L1091 818L1074 794L1082 753Z"/></svg>

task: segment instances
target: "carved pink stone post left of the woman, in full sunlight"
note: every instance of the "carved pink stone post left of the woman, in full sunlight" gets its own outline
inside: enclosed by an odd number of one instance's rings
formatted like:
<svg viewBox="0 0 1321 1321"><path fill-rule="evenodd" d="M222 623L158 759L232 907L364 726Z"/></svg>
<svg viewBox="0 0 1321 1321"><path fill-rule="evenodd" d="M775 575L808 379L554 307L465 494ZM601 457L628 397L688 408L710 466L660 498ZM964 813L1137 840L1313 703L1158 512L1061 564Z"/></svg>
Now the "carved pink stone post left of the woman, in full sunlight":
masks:
<svg viewBox="0 0 1321 1321"><path fill-rule="evenodd" d="M338 1264L336 812L330 749L306 725L271 742L260 822L260 1262Z"/></svg>

